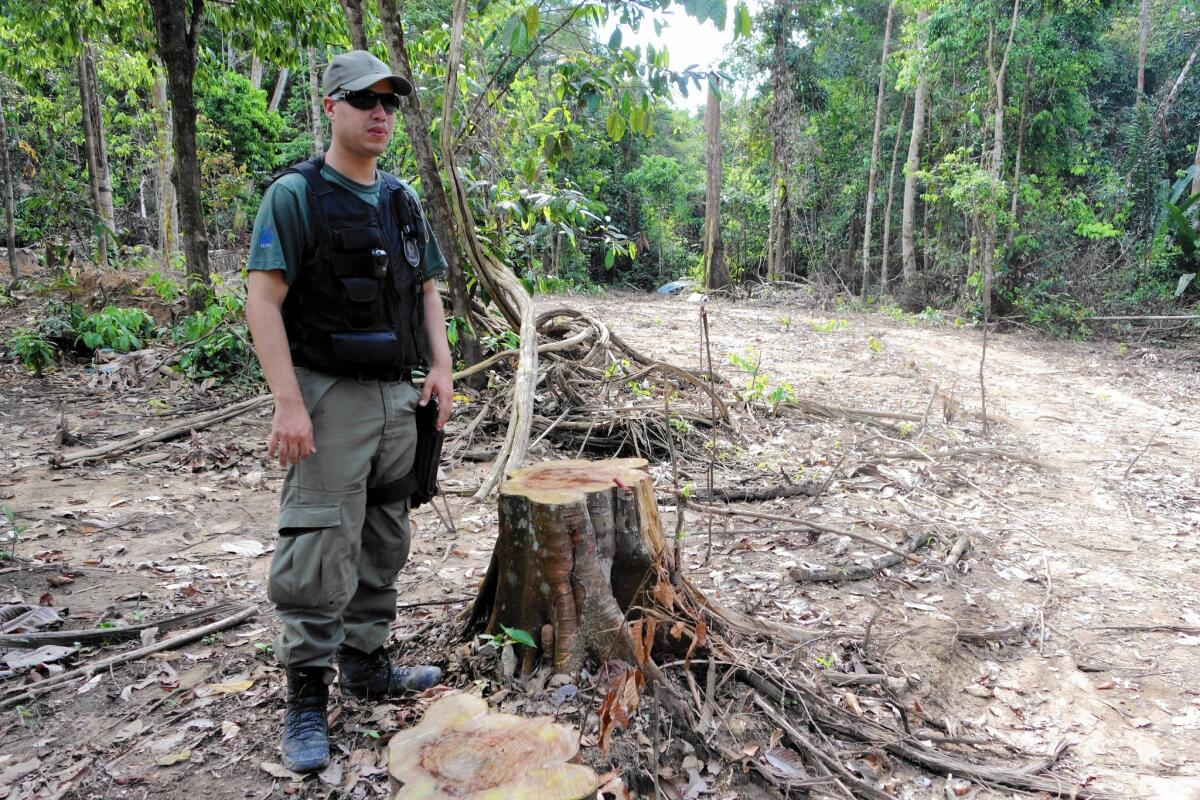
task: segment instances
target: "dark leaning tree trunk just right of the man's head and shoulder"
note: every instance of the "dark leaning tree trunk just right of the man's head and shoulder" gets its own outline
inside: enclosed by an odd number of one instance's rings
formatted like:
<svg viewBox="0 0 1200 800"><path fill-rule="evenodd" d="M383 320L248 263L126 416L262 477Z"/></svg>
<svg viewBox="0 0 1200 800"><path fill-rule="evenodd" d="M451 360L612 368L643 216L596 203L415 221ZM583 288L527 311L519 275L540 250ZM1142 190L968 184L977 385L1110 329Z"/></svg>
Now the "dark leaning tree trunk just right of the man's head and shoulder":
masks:
<svg viewBox="0 0 1200 800"><path fill-rule="evenodd" d="M350 2L353 0L343 1ZM458 239L454 233L450 203L446 200L442 175L438 174L433 143L430 140L430 121L421 107L416 79L413 77L413 68L408 61L404 25L400 18L400 11L396 8L396 0L379 0L379 22L383 25L384 43L388 46L388 59L391 61L392 71L413 85L413 92L406 98L406 102L400 104L400 110L403 114L408 142L413 148L418 174L421 176L421 198L425 210L430 215L433 235L437 236L438 243L442 245L442 252L446 257L450 309L458 320L458 342L455 349L458 357L467 366L470 366L482 361L484 355L479 344L479 333L476 333L472 320L470 297L467 294L467 271L458 251ZM467 383L478 387L486 380L487 377L480 373L478 378L468 378Z"/></svg>

